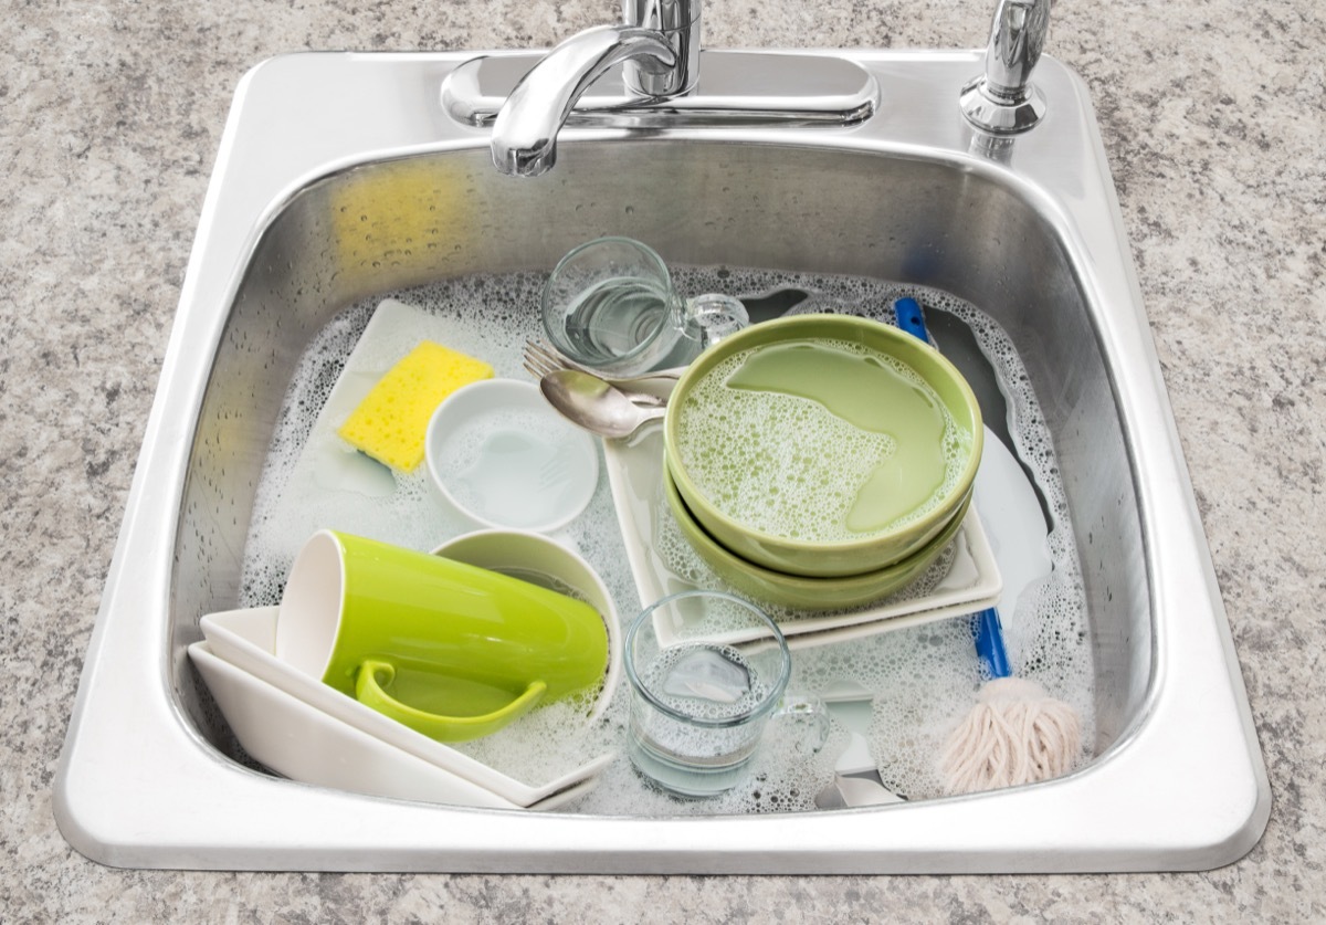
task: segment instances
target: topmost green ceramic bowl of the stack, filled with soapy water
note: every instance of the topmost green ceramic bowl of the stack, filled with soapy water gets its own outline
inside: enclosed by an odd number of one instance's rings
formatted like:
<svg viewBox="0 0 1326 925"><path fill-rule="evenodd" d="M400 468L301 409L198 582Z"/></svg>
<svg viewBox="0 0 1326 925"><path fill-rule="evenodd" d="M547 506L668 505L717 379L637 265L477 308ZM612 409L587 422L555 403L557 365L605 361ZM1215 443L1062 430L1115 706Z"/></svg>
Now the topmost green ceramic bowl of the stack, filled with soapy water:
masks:
<svg viewBox="0 0 1326 925"><path fill-rule="evenodd" d="M664 459L719 545L825 578L932 543L971 492L983 439L976 396L930 345L867 318L793 315L691 363L668 400Z"/></svg>

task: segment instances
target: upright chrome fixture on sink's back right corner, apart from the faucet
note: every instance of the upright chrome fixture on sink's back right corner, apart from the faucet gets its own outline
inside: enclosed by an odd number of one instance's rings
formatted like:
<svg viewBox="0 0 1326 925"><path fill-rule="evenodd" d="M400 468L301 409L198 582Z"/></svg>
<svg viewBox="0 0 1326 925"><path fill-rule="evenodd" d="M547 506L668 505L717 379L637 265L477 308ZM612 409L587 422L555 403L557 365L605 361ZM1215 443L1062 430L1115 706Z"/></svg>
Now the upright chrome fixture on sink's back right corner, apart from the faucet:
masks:
<svg viewBox="0 0 1326 925"><path fill-rule="evenodd" d="M1000 0L985 46L985 73L969 81L963 114L998 135L1026 131L1045 115L1045 97L1032 85L1050 29L1050 0Z"/></svg>

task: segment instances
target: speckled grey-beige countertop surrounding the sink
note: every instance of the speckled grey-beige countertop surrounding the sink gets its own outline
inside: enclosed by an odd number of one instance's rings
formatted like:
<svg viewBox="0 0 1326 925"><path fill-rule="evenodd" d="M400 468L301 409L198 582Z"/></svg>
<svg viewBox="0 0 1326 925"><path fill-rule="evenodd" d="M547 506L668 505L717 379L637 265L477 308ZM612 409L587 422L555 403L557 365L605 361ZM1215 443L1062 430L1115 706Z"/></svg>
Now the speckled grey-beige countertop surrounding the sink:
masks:
<svg viewBox="0 0 1326 925"><path fill-rule="evenodd" d="M992 4L712 0L711 46L969 48ZM1059 3L1086 80L1274 792L1196 875L545 877L117 871L50 783L231 94L297 49L546 46L587 0L5 4L0 42L0 918L1326 920L1326 15Z"/></svg>

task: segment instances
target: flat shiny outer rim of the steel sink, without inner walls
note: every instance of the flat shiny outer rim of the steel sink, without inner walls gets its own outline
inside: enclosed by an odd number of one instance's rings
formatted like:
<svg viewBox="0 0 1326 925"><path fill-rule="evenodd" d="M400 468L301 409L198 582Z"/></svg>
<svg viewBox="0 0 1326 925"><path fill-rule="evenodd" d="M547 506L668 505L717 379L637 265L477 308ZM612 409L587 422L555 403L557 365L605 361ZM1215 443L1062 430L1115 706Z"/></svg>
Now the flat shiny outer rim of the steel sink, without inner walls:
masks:
<svg viewBox="0 0 1326 925"><path fill-rule="evenodd" d="M298 53L264 62L241 81L204 201L56 781L57 822L78 851L129 867L786 873L1201 869L1236 860L1256 844L1269 818L1269 785L1085 87L1057 61L1042 58L1037 80L1050 91L1052 107L1055 102L1059 106L1053 121L1018 139L1017 163L1010 166L972 152L975 134L957 110L957 87L979 70L979 53L823 53L871 69L884 87L886 117L850 133L826 134L822 140L833 142L829 147L948 160L963 170L988 171L1025 195L1042 197L1066 246L1079 256L1075 265L1091 276L1083 281L1087 296L1132 307L1131 314L1120 315L1093 306L1103 350L1111 358L1134 356L1130 371L1139 376L1115 383L1134 456L1152 594L1154 671L1132 726L1089 767L1048 783L882 810L724 818L721 824L650 819L631 826L642 820L396 803L277 781L216 751L184 716L172 690L168 657L159 657L168 639L170 559L188 437L198 424L208 372L190 367L186 347L207 345L207 355L215 355L248 256L261 232L308 183L383 155L487 144L485 131L447 123L440 115L438 123L410 122L373 107L374 90L394 87L406 98L423 97L426 85L435 86L450 68L475 53ZM935 86L952 85L952 125L936 125L910 110L890 113L891 78L907 76L912 87L918 81L908 72L916 70L932 74ZM300 126L301 136L292 138L281 155L259 171L263 180L252 182L245 166L273 146L273 126L280 131L281 106L273 106L271 98L329 99L338 90L346 95L339 99L335 121L346 118L346 105L359 107L358 136L345 140L332 131L330 118L306 121ZM1050 154L1041 151L1050 131L1078 139L1083 163L1095 168L1083 174L1077 197L1055 195L1028 176L1050 163ZM577 130L574 136L621 134ZM664 134L683 142L786 140L786 133L776 130ZM818 138L817 131L806 134L812 142ZM1139 466L1152 477L1139 480ZM160 504L162 497L171 502ZM1199 599L1209 606L1193 606ZM1201 696L1176 688L1175 679L1200 681ZM1170 767L1197 766L1192 755L1174 754L1167 734L1179 724L1207 722L1212 698L1229 701L1229 709L1221 712L1225 721L1208 730L1211 754L1197 762L1208 774L1201 786L1172 781L1172 790L1135 792L1131 775L1139 765L1143 771L1147 762L1158 761ZM126 722L126 716L139 721ZM143 716L151 721L142 721ZM138 747L126 749L126 739ZM133 763L149 750L155 765ZM113 773L106 773L107 766ZM1215 783L1212 769L1219 778ZM188 787L178 786L182 779ZM145 787L142 781L152 783ZM253 811L200 804L198 798L215 789ZM146 814L139 795L145 791L151 794ZM1213 792L1219 800L1212 799ZM1093 816L1097 842L1089 847L1067 838L1062 827L1046 824L1083 815L1083 800L1114 806L1103 822ZM1167 826L1176 807L1189 806L1208 814L1204 824L1199 831L1171 831ZM347 844L338 822L346 812L381 826L383 835ZM874 815L880 812L890 815ZM255 820L271 823L273 816L297 820L298 831L274 839L269 831L260 835ZM203 822L208 827L206 843L196 832ZM769 824L780 826L778 836L770 838L762 828ZM294 827L284 828L289 832ZM879 844L883 831L888 844ZM522 847L511 849L513 843ZM583 844L594 848L568 849Z"/></svg>

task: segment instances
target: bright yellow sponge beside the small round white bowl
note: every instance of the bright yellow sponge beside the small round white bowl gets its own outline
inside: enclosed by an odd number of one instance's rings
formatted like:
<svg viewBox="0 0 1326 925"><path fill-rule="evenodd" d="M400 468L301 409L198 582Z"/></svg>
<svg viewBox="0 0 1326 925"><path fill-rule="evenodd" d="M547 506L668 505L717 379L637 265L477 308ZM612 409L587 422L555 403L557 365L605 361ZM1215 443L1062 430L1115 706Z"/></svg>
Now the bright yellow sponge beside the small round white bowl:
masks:
<svg viewBox="0 0 1326 925"><path fill-rule="evenodd" d="M411 472L423 460L434 409L461 386L492 375L488 363L423 341L387 370L337 433L379 462Z"/></svg>

